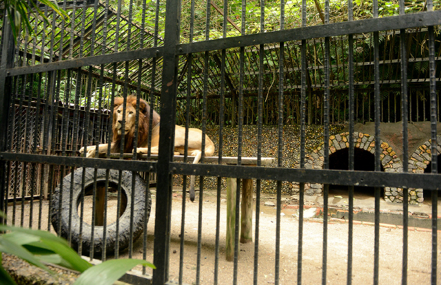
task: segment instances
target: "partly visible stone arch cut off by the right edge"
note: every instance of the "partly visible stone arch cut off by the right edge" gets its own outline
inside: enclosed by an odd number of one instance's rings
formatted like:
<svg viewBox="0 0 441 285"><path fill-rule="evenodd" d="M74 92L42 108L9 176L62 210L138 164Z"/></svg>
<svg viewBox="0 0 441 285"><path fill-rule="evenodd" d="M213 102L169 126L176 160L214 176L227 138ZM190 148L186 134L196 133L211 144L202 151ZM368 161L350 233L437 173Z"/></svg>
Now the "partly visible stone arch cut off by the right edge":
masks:
<svg viewBox="0 0 441 285"><path fill-rule="evenodd" d="M424 173L424 170L427 168L427 165L430 164L431 157L431 143L432 140L427 140L420 147L418 147L413 154L411 154L409 158L409 171L413 173ZM441 154L441 136L436 136L436 149L438 151L438 155ZM418 203L422 203L424 201L423 189L422 188L411 188L409 189L409 196L411 197L411 202L415 201Z"/></svg>

